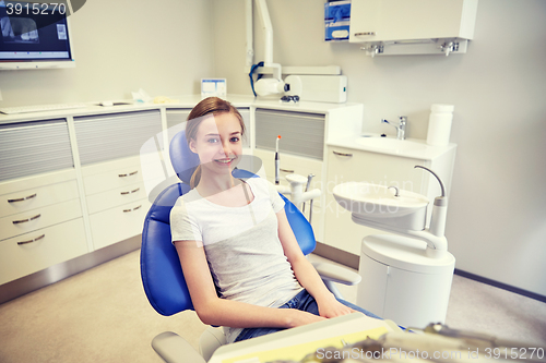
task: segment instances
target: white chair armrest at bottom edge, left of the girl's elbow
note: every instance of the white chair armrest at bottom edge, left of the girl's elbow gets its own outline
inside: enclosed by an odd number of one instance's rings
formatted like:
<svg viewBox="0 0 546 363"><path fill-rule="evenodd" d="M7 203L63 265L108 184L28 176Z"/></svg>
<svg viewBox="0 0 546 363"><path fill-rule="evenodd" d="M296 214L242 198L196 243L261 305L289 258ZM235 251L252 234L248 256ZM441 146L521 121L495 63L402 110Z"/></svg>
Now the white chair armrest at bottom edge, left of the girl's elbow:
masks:
<svg viewBox="0 0 546 363"><path fill-rule="evenodd" d="M173 331L156 336L152 348L167 363L206 363L186 339Z"/></svg>

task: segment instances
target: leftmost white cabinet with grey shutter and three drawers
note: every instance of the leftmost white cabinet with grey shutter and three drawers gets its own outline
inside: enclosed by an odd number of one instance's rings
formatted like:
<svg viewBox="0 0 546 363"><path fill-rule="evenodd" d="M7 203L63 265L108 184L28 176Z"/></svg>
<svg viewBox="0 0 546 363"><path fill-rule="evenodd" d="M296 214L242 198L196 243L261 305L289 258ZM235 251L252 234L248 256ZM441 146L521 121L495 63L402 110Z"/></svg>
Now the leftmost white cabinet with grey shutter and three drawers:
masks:
<svg viewBox="0 0 546 363"><path fill-rule="evenodd" d="M87 252L64 119L0 125L0 285Z"/></svg>

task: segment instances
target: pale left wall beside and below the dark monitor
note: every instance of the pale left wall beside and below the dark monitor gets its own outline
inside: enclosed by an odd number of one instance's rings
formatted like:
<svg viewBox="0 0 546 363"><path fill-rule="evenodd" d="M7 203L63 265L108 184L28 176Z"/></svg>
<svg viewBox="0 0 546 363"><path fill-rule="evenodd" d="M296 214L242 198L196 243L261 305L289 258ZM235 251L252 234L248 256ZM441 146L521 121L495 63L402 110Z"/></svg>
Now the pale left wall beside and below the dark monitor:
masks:
<svg viewBox="0 0 546 363"><path fill-rule="evenodd" d="M93 0L70 17L76 68L1 71L1 107L200 92L213 76L211 1Z"/></svg>

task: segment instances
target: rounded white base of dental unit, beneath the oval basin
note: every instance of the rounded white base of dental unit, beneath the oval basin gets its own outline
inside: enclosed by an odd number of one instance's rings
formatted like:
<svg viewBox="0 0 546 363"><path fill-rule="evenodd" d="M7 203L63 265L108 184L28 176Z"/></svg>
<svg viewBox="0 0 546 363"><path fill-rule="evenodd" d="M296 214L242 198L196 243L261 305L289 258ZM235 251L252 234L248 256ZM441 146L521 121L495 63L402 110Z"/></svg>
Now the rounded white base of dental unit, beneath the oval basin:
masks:
<svg viewBox="0 0 546 363"><path fill-rule="evenodd" d="M444 323L455 257L427 256L423 241L395 234L363 240L356 304L405 327Z"/></svg>

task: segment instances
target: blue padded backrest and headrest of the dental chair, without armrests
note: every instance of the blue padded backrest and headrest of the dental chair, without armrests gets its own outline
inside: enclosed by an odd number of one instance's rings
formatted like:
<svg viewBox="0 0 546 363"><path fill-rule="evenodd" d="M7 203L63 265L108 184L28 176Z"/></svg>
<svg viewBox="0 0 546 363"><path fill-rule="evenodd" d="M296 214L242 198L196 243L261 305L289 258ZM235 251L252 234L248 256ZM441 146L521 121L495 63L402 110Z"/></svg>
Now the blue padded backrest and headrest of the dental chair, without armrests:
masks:
<svg viewBox="0 0 546 363"><path fill-rule="evenodd" d="M183 148L185 144L186 148ZM176 152L175 152L176 150ZM182 181L189 181L192 169L199 165L199 158L187 146L186 135L179 132L170 143L173 167ZM191 171L191 173L190 173ZM256 174L236 169L236 178L253 178ZM259 178L259 177L257 177ZM162 315L173 315L185 310L193 310L191 298L186 285L178 253L171 243L170 209L177 198L189 192L187 183L177 183L166 187L150 208L142 231L141 277L146 297L152 306ZM314 250L316 240L311 225L298 208L286 197L285 211L288 222L304 254Z"/></svg>

